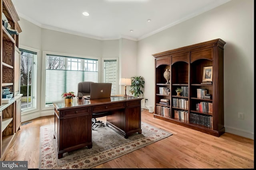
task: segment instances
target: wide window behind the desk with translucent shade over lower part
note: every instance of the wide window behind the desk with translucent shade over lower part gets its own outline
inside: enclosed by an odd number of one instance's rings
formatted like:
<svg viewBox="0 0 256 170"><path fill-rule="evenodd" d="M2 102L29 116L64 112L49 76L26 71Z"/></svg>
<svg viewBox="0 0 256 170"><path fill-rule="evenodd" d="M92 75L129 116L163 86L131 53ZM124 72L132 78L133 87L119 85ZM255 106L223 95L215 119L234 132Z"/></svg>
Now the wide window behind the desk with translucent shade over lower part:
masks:
<svg viewBox="0 0 256 170"><path fill-rule="evenodd" d="M77 95L77 84L98 82L98 60L46 54L45 104L62 100L64 92Z"/></svg>

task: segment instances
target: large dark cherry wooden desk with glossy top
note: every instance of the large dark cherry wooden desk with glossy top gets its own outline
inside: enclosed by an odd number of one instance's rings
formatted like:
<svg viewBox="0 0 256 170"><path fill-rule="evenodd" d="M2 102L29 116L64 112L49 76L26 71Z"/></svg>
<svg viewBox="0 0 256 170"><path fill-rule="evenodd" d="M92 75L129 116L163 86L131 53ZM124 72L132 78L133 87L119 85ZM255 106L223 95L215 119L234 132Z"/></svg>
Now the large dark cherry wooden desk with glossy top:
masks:
<svg viewBox="0 0 256 170"><path fill-rule="evenodd" d="M54 103L54 138L58 141L58 158L64 152L87 146L92 148L92 113L110 112L107 123L124 138L141 134L141 104L143 98L126 96L107 99L78 100L65 106Z"/></svg>

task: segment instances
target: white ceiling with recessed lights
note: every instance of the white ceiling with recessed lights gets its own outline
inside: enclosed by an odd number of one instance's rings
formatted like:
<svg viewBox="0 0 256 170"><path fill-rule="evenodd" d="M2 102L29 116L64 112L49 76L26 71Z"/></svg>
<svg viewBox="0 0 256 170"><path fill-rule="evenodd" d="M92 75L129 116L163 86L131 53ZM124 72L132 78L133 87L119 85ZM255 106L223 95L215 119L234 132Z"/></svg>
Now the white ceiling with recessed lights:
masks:
<svg viewBox="0 0 256 170"><path fill-rule="evenodd" d="M12 0L42 28L100 40L138 41L230 0ZM89 16L82 15L88 12ZM148 22L147 20L151 21ZM133 30L132 32L130 30Z"/></svg>

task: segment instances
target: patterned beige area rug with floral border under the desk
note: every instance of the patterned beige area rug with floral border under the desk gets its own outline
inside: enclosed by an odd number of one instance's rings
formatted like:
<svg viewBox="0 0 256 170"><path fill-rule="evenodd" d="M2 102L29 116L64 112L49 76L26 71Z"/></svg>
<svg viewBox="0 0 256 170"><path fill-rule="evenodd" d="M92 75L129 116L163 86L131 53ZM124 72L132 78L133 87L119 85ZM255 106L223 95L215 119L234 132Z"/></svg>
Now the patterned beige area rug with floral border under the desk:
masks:
<svg viewBox="0 0 256 170"><path fill-rule="evenodd" d="M93 168L104 162L150 145L172 135L141 122L142 134L134 133L125 139L116 129L99 126L92 131L92 149L84 147L63 154L58 159L57 141L53 138L54 125L40 129L41 152L39 169L84 169Z"/></svg>

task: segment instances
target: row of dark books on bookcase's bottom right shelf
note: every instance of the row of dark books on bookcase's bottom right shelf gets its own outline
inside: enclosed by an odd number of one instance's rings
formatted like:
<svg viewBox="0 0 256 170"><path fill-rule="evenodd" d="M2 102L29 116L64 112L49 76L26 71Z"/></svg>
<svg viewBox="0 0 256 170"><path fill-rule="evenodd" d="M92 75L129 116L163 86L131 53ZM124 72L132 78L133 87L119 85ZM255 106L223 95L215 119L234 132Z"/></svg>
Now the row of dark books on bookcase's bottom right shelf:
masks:
<svg viewBox="0 0 256 170"><path fill-rule="evenodd" d="M204 126L210 127L210 128L213 127L211 115L199 115L196 113L190 113L190 123L204 125Z"/></svg>

